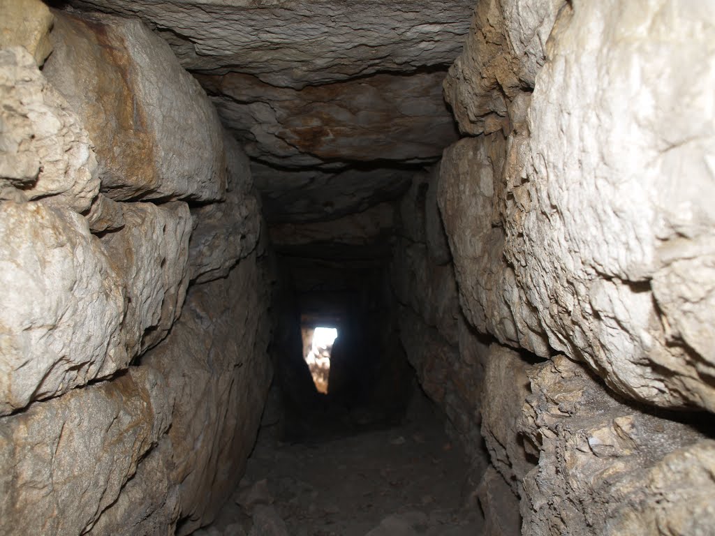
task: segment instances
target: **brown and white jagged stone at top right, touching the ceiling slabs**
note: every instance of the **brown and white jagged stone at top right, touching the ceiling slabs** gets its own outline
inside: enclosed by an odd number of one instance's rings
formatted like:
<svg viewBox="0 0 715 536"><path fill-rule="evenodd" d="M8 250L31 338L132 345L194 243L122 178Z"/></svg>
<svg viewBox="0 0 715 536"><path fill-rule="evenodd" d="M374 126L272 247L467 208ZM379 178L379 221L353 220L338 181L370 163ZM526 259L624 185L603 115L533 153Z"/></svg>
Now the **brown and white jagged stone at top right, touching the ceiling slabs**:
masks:
<svg viewBox="0 0 715 536"><path fill-rule="evenodd" d="M477 3L462 54L445 80L445 99L465 134L509 130L508 106L533 88L546 41L566 0Z"/></svg>

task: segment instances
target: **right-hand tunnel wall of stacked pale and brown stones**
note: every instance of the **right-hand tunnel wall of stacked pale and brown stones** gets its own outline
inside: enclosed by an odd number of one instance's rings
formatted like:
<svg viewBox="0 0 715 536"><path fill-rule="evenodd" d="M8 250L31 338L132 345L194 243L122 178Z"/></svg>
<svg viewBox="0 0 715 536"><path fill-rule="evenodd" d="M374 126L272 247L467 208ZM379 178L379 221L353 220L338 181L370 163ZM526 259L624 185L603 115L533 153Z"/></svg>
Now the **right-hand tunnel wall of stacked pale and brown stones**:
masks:
<svg viewBox="0 0 715 536"><path fill-rule="evenodd" d="M506 492L526 535L715 525L714 20L677 0L477 4L445 81L468 137L436 190L461 311L498 343L479 357L489 534L520 532ZM465 359L427 353L445 349Z"/></svg>

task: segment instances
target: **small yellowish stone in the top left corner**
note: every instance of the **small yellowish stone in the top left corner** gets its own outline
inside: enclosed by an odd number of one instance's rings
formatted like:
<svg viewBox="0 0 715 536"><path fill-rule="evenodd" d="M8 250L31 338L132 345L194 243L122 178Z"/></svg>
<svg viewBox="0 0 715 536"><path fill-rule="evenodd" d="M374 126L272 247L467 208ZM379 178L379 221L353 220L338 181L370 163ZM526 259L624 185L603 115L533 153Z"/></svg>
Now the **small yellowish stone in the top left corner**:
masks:
<svg viewBox="0 0 715 536"><path fill-rule="evenodd" d="M0 0L0 13L0 49L24 46L41 66L52 51L54 18L47 6L41 0Z"/></svg>

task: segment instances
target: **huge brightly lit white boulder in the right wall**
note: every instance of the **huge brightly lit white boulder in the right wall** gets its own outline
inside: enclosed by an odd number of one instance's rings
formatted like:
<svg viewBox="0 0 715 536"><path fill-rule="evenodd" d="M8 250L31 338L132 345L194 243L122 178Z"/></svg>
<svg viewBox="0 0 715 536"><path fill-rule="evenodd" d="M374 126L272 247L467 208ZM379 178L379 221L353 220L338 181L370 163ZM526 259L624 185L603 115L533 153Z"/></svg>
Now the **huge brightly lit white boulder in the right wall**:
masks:
<svg viewBox="0 0 715 536"><path fill-rule="evenodd" d="M504 247L551 347L628 397L711 411L714 20L675 0L561 11L510 147Z"/></svg>

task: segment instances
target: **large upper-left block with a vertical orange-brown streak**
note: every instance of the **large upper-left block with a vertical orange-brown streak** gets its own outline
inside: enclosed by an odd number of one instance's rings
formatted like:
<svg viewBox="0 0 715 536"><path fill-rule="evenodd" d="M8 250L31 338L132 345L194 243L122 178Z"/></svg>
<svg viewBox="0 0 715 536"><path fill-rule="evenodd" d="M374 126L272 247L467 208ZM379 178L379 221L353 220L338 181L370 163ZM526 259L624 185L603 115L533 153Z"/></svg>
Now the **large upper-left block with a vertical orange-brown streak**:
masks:
<svg viewBox="0 0 715 536"><path fill-rule="evenodd" d="M115 200L222 199L226 162L215 109L169 46L138 20L56 11L44 74L96 145Z"/></svg>

